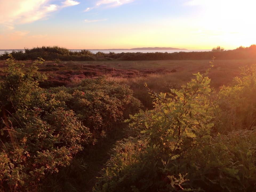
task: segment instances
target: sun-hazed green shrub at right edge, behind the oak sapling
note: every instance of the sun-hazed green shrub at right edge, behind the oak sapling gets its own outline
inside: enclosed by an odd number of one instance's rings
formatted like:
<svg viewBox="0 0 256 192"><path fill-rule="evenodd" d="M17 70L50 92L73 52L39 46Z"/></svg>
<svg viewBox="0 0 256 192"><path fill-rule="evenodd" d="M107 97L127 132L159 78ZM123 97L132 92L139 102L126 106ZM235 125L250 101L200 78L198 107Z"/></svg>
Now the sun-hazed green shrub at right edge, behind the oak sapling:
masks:
<svg viewBox="0 0 256 192"><path fill-rule="evenodd" d="M222 86L218 104L219 131L250 129L256 125L256 67L243 69L230 86Z"/></svg>

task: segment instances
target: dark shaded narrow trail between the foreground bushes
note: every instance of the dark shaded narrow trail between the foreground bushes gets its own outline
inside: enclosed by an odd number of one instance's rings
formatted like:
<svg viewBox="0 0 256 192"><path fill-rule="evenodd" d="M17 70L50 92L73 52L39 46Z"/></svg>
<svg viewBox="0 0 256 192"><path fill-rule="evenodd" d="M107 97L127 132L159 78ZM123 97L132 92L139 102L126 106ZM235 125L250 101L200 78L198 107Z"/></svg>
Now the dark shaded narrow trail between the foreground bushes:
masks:
<svg viewBox="0 0 256 192"><path fill-rule="evenodd" d="M49 176L45 181L42 192L90 192L97 177L101 177L102 169L113 154L115 143L127 137L126 125L121 125L109 132L106 137L97 141L94 146L84 149L58 174Z"/></svg>

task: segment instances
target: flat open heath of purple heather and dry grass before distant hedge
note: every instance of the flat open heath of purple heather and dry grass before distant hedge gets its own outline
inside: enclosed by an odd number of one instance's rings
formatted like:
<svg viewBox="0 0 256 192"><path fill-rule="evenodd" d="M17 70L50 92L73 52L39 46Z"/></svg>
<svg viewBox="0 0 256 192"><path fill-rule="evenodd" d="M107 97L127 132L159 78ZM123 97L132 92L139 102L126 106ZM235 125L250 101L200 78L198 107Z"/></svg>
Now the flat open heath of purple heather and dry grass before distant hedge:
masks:
<svg viewBox="0 0 256 192"><path fill-rule="evenodd" d="M39 71L50 77L61 76L64 81L72 81L76 78L88 78L106 75L117 81L133 79L143 81L147 79L161 79L161 82L183 84L191 79L193 73L202 73L210 67L209 60L173 60L173 61L46 61L39 65ZM31 61L22 61L30 65ZM256 59L240 60L215 60L209 77L212 86L217 88L229 83L231 79L239 75L239 67L251 66ZM6 66L5 61L0 61L0 67ZM61 80L61 77L58 77ZM121 80L120 80L120 79ZM130 80L129 80L130 81ZM159 85L157 85L159 86Z"/></svg>

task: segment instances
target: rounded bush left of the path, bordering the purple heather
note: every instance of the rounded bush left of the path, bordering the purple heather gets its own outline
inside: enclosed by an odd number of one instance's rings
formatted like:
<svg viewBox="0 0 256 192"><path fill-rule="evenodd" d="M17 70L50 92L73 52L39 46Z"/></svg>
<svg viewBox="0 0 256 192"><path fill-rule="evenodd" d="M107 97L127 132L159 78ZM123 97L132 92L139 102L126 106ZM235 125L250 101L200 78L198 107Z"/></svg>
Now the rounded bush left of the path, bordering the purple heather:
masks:
<svg viewBox="0 0 256 192"><path fill-rule="evenodd" d="M66 109L73 110L93 133L103 134L122 121L123 116L127 117L141 106L127 85L106 81L104 77L84 79L75 87L48 90L55 98L64 101Z"/></svg>

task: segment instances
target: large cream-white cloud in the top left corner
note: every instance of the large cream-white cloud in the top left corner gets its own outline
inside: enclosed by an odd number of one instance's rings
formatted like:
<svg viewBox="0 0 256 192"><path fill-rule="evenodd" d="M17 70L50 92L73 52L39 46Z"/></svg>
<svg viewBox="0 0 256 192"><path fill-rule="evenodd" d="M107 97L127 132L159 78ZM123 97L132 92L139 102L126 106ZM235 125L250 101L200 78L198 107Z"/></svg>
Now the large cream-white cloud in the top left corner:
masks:
<svg viewBox="0 0 256 192"><path fill-rule="evenodd" d="M15 24L34 22L46 18L51 12L79 4L73 0L65 0L59 4L51 2L52 0L0 0L0 25L13 29Z"/></svg>

